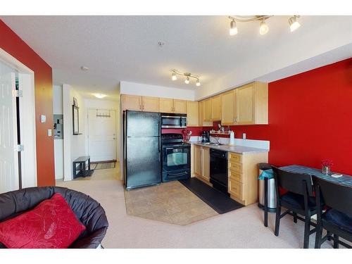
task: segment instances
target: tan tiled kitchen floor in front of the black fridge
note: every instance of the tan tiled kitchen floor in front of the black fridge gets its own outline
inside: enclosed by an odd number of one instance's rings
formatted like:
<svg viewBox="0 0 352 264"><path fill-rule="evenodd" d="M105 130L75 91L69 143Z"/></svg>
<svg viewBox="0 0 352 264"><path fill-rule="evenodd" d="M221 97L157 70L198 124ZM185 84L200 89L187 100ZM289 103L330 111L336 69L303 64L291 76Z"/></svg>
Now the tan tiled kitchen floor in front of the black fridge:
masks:
<svg viewBox="0 0 352 264"><path fill-rule="evenodd" d="M125 191L125 201L128 215L175 225L218 215L179 181Z"/></svg>

